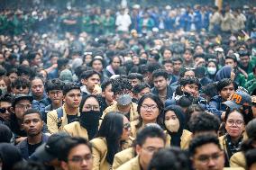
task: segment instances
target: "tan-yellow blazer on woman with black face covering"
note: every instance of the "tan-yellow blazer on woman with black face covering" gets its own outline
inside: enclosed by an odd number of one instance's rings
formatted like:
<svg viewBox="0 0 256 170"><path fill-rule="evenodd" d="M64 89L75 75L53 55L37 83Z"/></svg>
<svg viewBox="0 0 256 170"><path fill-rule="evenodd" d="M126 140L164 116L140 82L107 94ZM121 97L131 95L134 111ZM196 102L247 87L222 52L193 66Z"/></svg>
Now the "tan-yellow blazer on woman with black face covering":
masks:
<svg viewBox="0 0 256 170"><path fill-rule="evenodd" d="M87 129L82 127L79 121L74 121L65 125L63 130L69 133L72 137L82 137L84 139L88 139Z"/></svg>

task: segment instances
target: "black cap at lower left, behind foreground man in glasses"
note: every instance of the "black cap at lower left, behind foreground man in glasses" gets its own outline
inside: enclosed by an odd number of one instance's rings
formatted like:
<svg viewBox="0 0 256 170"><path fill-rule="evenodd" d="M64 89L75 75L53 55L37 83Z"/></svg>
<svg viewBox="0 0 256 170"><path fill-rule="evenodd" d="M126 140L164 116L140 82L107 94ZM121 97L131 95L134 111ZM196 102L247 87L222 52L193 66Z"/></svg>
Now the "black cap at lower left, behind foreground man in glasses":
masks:
<svg viewBox="0 0 256 170"><path fill-rule="evenodd" d="M66 132L52 134L46 143L35 150L30 159L39 162L50 162L55 158L59 158L64 146L62 144L69 137L70 135Z"/></svg>

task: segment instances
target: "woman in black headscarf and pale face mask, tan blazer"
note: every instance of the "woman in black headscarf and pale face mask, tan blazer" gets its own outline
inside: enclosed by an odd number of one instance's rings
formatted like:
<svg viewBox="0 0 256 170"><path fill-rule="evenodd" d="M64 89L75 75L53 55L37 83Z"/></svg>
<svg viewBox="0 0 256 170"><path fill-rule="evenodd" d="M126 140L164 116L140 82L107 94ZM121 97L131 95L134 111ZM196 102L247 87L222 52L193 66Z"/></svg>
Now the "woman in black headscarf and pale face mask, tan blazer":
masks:
<svg viewBox="0 0 256 170"><path fill-rule="evenodd" d="M185 130L185 116L181 107L170 105L163 112L163 127L167 131L167 145L188 148L192 133Z"/></svg>

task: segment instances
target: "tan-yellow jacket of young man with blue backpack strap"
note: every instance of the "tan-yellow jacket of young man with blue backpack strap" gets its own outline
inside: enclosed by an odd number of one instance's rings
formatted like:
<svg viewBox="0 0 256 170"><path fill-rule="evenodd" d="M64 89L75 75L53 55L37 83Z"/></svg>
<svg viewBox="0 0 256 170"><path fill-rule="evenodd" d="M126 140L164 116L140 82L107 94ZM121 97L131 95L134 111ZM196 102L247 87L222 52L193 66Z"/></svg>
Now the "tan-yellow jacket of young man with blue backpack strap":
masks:
<svg viewBox="0 0 256 170"><path fill-rule="evenodd" d="M47 127L50 133L56 133L59 131L63 131L65 125L68 124L67 112L65 111L65 104L62 106L63 115L61 117L61 126L58 129L58 114L56 110L47 113ZM80 112L78 112L78 117L80 116Z"/></svg>

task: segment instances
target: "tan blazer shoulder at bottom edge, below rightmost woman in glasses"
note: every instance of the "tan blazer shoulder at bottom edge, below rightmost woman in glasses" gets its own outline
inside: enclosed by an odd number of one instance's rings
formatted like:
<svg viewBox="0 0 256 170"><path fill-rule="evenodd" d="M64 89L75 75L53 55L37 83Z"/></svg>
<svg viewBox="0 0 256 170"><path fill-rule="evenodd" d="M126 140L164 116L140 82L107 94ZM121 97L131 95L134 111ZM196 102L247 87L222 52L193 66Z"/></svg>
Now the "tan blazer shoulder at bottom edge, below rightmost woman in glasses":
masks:
<svg viewBox="0 0 256 170"><path fill-rule="evenodd" d="M246 160L242 151L233 154L230 157L230 166L231 167L242 167L246 169Z"/></svg>

